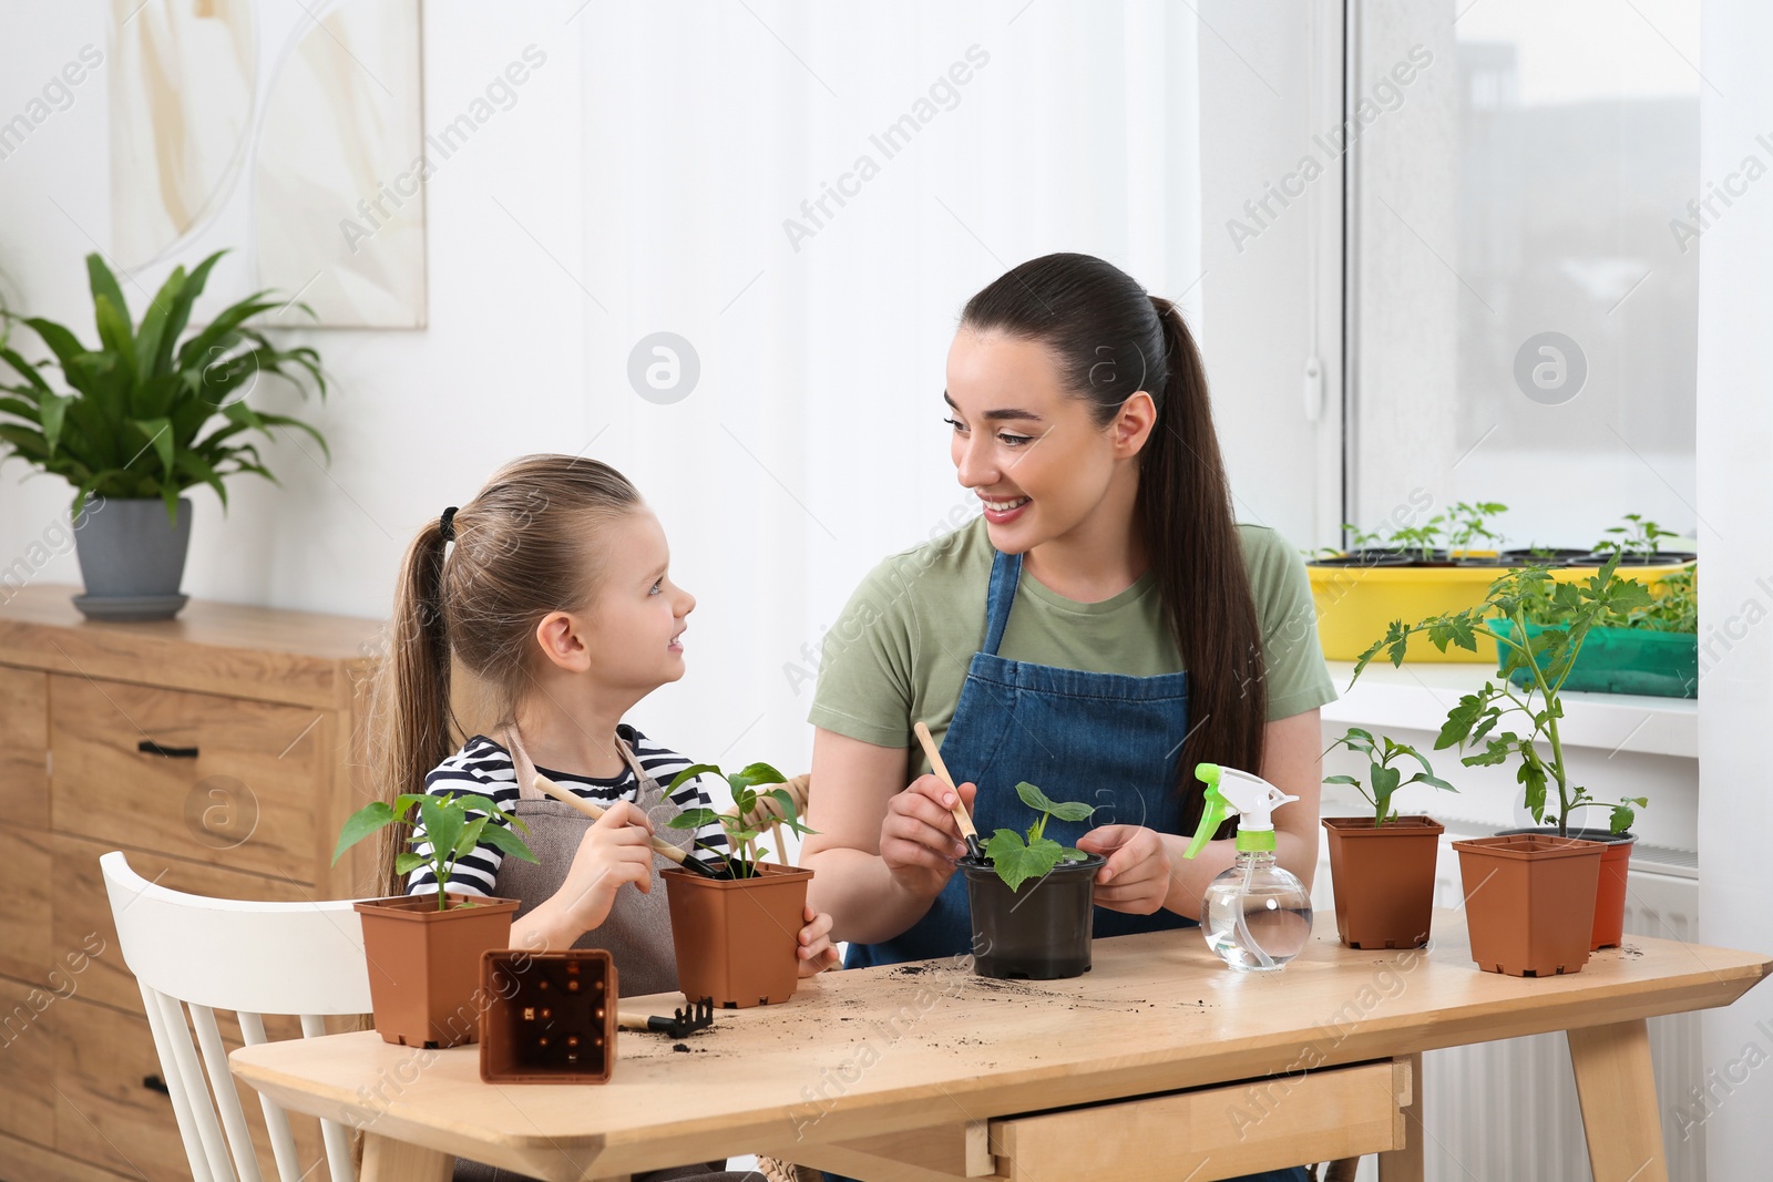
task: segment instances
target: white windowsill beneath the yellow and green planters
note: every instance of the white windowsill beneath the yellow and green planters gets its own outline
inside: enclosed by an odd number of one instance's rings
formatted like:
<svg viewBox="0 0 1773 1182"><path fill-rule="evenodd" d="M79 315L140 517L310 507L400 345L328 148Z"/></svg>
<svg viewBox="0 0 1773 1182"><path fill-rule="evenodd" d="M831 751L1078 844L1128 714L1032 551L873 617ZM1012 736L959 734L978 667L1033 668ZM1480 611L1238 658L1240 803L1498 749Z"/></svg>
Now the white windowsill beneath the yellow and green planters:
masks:
<svg viewBox="0 0 1773 1182"><path fill-rule="evenodd" d="M1374 661L1355 688L1353 661L1330 661L1330 679L1342 695L1323 707L1323 719L1342 727L1390 727L1440 732L1459 696L1496 679L1493 665ZM1564 693L1564 743L1699 758L1699 700L1649 698L1629 693Z"/></svg>

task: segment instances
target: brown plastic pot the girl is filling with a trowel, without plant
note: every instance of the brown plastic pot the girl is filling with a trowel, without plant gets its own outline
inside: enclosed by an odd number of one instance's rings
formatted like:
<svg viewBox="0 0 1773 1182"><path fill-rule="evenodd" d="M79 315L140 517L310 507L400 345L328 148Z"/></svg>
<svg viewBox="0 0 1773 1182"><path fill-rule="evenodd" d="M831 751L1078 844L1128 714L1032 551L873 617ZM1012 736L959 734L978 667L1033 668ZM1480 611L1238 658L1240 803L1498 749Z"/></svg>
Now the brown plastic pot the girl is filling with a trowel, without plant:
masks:
<svg viewBox="0 0 1773 1182"><path fill-rule="evenodd" d="M683 996L745 1010L777 1005L800 985L800 929L812 870L759 863L746 879L663 870Z"/></svg>

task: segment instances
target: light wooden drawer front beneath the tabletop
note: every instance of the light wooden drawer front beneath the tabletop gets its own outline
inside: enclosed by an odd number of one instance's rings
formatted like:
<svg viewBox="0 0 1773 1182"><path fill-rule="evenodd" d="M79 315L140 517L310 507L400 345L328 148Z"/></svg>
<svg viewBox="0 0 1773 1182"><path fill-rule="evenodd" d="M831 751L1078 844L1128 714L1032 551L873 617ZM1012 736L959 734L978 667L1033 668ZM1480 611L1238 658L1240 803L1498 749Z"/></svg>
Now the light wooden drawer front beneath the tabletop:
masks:
<svg viewBox="0 0 1773 1182"><path fill-rule="evenodd" d="M1356 1063L989 1122L1005 1182L1207 1182L1404 1147L1408 1063Z"/></svg>

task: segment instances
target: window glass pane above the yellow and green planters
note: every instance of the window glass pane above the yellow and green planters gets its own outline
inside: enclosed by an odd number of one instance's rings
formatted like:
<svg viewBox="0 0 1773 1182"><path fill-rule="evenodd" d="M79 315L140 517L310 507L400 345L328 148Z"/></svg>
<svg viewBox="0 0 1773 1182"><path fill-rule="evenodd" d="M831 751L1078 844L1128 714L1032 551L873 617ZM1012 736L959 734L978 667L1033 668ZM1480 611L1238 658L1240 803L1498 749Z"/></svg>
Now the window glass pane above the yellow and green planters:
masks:
<svg viewBox="0 0 1773 1182"><path fill-rule="evenodd" d="M1353 0L1351 521L1697 533L1697 64L1699 0Z"/></svg>

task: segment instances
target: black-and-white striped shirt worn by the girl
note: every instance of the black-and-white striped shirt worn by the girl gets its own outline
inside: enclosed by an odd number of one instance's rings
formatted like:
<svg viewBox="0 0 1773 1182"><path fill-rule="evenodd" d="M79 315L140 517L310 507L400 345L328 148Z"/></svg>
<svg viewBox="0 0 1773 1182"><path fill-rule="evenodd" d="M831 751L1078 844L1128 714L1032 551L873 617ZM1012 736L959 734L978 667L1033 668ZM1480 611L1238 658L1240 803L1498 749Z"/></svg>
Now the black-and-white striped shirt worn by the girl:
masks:
<svg viewBox="0 0 1773 1182"><path fill-rule="evenodd" d="M677 773L690 766L688 758L649 741L626 723L617 727L617 734L628 741L628 746L635 751L635 760L647 769L647 774L658 780L661 789L670 789L670 782ZM553 771L550 767L537 767L535 771L601 808L608 808L617 801L638 799L640 782L635 778L631 767L624 767L621 776L610 780ZM713 797L709 797L704 785L706 778L704 774L684 782L670 794L670 801L681 810L697 806L715 808ZM433 796L445 792L484 796L505 812L511 812L512 805L518 803L518 773L511 762L511 751L486 735L473 735L459 751L426 774L426 792ZM660 819L654 817L654 828L658 828L658 822ZM521 836L521 831L518 835ZM420 842L413 845L413 852L429 854L431 845L422 836L420 831ZM727 852L727 835L720 824L707 824L697 829L695 849L702 858L723 856ZM480 842L473 852L456 859L449 888L466 895L493 895L502 859L504 852L496 845ZM438 881L431 867L418 867L406 879L406 891L410 895L434 891Z"/></svg>

